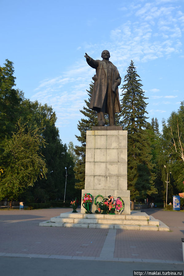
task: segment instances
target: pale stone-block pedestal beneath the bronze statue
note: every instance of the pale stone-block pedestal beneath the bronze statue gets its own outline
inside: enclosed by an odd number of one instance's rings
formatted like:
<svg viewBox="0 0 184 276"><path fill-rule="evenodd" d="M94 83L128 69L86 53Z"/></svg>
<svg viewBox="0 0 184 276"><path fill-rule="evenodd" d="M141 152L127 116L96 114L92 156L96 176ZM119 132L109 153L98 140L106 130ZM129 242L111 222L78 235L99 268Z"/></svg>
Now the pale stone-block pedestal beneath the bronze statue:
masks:
<svg viewBox="0 0 184 276"><path fill-rule="evenodd" d="M122 214L130 214L130 191L127 190L127 131L119 126L93 127L86 133L84 193L114 198L125 204ZM93 204L92 212L96 206ZM81 213L85 209L81 205Z"/></svg>

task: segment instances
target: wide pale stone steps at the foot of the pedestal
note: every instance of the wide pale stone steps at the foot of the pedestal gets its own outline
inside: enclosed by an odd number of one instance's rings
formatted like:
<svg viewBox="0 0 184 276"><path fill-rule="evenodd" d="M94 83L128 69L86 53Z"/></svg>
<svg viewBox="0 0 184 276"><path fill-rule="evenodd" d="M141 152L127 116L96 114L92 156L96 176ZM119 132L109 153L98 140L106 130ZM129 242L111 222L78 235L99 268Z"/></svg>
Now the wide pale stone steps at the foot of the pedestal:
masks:
<svg viewBox="0 0 184 276"><path fill-rule="evenodd" d="M39 226L169 231L168 226L144 212L132 212L131 215L67 212L41 222Z"/></svg>

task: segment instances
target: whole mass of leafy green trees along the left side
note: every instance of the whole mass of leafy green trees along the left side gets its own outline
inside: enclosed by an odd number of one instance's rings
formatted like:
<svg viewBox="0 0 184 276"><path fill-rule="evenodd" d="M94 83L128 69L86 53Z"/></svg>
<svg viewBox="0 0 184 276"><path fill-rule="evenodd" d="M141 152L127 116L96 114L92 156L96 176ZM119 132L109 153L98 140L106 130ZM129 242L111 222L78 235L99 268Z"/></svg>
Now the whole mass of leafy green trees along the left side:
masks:
<svg viewBox="0 0 184 276"><path fill-rule="evenodd" d="M0 197L27 202L64 198L65 167L70 166L66 199L80 197L73 157L59 138L55 112L15 90L13 73L13 62L6 60L0 67Z"/></svg>

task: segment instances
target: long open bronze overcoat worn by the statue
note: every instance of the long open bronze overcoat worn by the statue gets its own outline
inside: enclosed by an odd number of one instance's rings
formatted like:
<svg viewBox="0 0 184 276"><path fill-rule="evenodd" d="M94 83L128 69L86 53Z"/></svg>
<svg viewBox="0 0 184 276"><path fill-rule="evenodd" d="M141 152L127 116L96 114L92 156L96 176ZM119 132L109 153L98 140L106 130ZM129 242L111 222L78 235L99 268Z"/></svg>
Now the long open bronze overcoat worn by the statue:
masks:
<svg viewBox="0 0 184 276"><path fill-rule="evenodd" d="M110 62L110 61L109 61ZM87 63L92 67L96 69L96 75L92 77L92 79L95 81L93 86L93 92L91 101L89 104L89 108L99 111L99 109L102 108L102 105L104 103L105 94L107 92L107 85L108 85L108 70L107 70L107 64L104 60L93 60L90 57L90 60L87 60ZM119 76L118 69L115 67L112 62L110 62L112 65L112 81L111 85L115 83L115 80L118 80L118 85L121 83L121 77ZM113 91L114 92L114 91ZM115 97L115 113L121 112L120 102L119 102L119 93L118 93L118 87L115 91L116 97ZM107 110L105 110L107 113Z"/></svg>

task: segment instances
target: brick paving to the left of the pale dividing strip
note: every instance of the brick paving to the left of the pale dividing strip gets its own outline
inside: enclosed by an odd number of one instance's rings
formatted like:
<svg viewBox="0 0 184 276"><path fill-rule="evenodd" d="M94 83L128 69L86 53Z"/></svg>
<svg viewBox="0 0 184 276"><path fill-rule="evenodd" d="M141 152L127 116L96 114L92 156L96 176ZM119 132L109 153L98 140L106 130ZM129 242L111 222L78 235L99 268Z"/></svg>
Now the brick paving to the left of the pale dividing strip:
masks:
<svg viewBox="0 0 184 276"><path fill-rule="evenodd" d="M0 252L99 257L108 229L38 226L63 211L71 209L0 211Z"/></svg>

